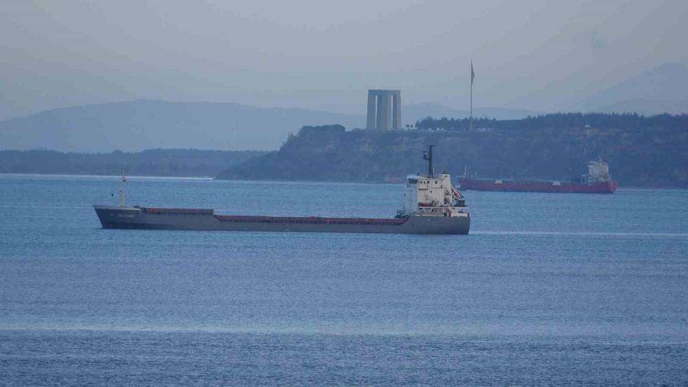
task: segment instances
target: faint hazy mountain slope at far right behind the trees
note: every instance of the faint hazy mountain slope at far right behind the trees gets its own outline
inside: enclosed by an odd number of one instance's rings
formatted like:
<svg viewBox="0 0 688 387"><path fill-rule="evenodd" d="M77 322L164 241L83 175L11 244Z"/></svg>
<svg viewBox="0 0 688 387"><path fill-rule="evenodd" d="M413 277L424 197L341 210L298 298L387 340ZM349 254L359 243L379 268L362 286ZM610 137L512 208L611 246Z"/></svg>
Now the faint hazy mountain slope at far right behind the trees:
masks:
<svg viewBox="0 0 688 387"><path fill-rule="evenodd" d="M629 78L579 102L583 111L688 113L688 66L668 63Z"/></svg>

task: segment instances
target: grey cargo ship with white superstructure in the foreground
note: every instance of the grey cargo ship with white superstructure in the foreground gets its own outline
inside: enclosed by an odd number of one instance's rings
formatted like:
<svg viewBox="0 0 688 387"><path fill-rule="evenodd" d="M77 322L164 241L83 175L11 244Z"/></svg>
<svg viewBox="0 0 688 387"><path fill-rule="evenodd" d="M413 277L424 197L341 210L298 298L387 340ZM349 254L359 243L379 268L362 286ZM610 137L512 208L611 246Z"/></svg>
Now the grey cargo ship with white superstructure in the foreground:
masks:
<svg viewBox="0 0 688 387"><path fill-rule="evenodd" d="M281 232L364 232L389 234L468 234L471 214L449 173L433 170L433 146L424 152L427 175L409 175L404 207L391 218L275 217L215 214L206 208L127 207L122 172L119 206L94 205L105 229L223 230Z"/></svg>

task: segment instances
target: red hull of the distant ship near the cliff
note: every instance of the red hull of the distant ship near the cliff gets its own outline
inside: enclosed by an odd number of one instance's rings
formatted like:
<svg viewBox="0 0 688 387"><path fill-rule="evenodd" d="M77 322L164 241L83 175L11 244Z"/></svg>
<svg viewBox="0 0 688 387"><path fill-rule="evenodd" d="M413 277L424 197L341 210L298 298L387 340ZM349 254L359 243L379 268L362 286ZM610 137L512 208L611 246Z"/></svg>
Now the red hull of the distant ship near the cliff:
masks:
<svg viewBox="0 0 688 387"><path fill-rule="evenodd" d="M467 177L460 177L459 184L462 190L504 192L613 193L619 187L616 181L585 184L572 181L470 179Z"/></svg>

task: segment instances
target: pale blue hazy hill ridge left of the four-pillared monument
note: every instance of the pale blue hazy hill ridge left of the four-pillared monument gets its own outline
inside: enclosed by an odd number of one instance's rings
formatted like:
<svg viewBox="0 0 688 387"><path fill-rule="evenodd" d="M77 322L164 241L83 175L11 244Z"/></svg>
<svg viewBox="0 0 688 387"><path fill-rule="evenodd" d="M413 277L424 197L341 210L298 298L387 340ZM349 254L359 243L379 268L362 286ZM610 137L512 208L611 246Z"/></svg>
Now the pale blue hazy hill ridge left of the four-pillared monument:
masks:
<svg viewBox="0 0 688 387"><path fill-rule="evenodd" d="M219 102L134 100L43 111L0 122L0 149L140 151L147 148L277 149L294 128L363 115Z"/></svg>

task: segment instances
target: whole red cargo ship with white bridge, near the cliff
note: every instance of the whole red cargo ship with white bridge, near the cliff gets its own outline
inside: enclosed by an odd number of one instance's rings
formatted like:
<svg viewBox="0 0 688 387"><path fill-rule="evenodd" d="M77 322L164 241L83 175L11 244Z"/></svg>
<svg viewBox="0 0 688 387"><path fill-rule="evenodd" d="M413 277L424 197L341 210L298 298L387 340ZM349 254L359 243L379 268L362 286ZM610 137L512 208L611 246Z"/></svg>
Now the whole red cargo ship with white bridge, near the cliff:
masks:
<svg viewBox="0 0 688 387"><path fill-rule="evenodd" d="M533 179L479 179L464 176L458 179L462 190L511 192L614 193L619 184L612 180L609 165L603 160L588 163L588 174L569 181Z"/></svg>

